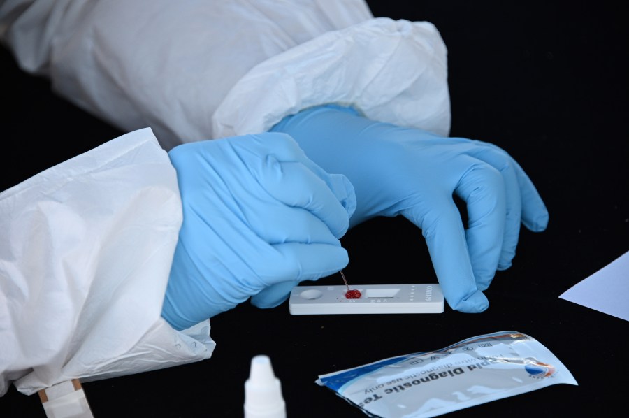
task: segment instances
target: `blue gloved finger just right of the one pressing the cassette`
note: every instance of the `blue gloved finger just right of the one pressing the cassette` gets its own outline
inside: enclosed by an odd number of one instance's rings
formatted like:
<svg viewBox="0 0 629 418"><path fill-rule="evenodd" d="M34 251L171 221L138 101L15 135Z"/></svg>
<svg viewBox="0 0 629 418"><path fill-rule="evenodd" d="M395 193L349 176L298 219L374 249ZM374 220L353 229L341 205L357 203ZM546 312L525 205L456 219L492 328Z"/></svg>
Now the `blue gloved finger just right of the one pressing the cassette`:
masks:
<svg viewBox="0 0 629 418"><path fill-rule="evenodd" d="M505 235L505 182L495 168L482 161L470 160L470 168L461 176L455 193L468 208L465 236L477 288L487 289L498 268Z"/></svg>

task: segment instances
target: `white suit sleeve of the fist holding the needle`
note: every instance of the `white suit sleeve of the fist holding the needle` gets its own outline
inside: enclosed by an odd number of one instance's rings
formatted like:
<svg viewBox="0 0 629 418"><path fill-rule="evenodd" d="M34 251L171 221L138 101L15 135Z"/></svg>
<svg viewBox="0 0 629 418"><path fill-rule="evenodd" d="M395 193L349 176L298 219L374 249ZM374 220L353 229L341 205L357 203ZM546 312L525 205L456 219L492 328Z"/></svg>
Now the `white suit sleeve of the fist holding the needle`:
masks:
<svg viewBox="0 0 629 418"><path fill-rule="evenodd" d="M0 193L0 396L210 357L209 322L161 318L181 222L149 128Z"/></svg>

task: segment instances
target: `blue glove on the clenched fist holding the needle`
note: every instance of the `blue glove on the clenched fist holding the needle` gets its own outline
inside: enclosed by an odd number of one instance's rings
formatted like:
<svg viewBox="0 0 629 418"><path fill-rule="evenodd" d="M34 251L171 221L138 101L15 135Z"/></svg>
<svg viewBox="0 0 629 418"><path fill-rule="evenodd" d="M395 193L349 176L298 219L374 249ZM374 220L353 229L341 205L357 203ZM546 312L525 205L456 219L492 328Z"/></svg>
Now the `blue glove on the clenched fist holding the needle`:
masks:
<svg viewBox="0 0 629 418"><path fill-rule="evenodd" d="M270 307L345 267L354 188L286 134L188 143L168 153L183 222L162 317L186 329L252 296Z"/></svg>

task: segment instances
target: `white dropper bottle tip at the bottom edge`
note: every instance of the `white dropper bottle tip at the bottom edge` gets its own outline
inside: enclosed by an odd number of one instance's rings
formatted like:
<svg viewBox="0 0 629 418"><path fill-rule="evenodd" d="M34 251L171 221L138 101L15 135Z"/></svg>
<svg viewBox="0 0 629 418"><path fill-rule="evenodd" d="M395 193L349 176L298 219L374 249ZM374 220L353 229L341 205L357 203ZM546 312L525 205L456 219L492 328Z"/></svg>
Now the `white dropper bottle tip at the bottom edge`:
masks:
<svg viewBox="0 0 629 418"><path fill-rule="evenodd" d="M275 377L268 356L251 359L249 379L245 382L245 418L286 418L282 384Z"/></svg>

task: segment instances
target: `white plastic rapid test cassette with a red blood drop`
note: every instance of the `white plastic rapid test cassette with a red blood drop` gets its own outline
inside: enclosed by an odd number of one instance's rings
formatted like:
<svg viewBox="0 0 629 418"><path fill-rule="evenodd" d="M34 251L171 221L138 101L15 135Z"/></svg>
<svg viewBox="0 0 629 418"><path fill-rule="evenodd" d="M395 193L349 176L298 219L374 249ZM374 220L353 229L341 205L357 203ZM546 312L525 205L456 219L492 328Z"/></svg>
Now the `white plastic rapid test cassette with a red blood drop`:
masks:
<svg viewBox="0 0 629 418"><path fill-rule="evenodd" d="M297 286L291 291L291 315L441 313L439 284L354 284L360 298L347 298L345 286Z"/></svg>

